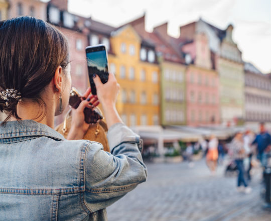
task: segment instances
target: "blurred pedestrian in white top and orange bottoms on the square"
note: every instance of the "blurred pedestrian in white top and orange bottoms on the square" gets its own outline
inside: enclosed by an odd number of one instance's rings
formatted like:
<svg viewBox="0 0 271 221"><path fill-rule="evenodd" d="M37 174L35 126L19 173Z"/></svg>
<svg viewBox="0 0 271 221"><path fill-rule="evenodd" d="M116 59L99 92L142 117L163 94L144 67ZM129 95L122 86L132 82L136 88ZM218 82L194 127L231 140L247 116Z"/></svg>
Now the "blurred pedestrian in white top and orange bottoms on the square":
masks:
<svg viewBox="0 0 271 221"><path fill-rule="evenodd" d="M208 143L208 152L206 155L206 164L211 170L211 174L215 175L217 159L218 159L218 140L215 135L211 135Z"/></svg>

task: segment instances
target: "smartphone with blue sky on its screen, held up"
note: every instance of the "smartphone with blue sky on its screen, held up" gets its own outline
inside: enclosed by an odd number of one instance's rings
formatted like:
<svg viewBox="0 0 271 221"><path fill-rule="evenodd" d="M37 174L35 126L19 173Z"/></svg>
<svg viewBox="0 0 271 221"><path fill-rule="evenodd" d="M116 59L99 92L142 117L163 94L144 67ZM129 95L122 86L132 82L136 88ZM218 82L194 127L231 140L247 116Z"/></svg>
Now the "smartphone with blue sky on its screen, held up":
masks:
<svg viewBox="0 0 271 221"><path fill-rule="evenodd" d="M96 95L96 87L92 78L93 74L97 74L102 83L108 81L108 57L105 45L100 44L86 47L86 58L91 93Z"/></svg>

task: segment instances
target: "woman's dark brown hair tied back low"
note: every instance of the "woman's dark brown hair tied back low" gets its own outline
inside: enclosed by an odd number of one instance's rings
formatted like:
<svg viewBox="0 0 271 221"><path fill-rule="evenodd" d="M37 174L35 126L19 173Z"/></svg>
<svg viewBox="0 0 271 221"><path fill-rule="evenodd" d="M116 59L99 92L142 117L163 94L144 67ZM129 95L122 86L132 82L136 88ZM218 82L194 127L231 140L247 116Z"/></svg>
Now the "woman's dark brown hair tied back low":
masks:
<svg viewBox="0 0 271 221"><path fill-rule="evenodd" d="M68 42L65 36L47 22L33 17L18 17L0 22L0 91L18 90L21 99L32 99L45 109L41 99L45 87L54 77L57 67L69 63ZM64 71L65 73L65 71ZM18 99L0 97L0 110L17 120ZM39 118L40 114L37 118ZM35 118L35 119L37 119Z"/></svg>

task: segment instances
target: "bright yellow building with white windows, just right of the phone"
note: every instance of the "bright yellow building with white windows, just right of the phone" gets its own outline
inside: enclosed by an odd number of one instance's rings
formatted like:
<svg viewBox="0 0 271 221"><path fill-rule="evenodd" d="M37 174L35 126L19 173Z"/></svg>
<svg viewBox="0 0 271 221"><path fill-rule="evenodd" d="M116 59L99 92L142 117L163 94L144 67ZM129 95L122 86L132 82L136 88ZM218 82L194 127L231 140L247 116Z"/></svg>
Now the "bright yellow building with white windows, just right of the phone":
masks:
<svg viewBox="0 0 271 221"><path fill-rule="evenodd" d="M128 126L159 125L160 70L154 45L130 26L112 32L109 70L120 84L117 110Z"/></svg>

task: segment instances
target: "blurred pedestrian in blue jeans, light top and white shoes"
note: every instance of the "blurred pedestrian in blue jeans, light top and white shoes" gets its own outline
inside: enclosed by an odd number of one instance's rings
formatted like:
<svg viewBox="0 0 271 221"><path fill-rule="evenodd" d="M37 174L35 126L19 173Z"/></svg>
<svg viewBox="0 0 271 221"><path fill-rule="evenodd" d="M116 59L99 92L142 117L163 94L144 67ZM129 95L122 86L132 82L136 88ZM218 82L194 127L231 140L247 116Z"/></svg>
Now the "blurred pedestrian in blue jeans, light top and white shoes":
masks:
<svg viewBox="0 0 271 221"><path fill-rule="evenodd" d="M244 141L243 135L241 132L237 132L230 144L230 148L232 151L232 158L234 159L237 170L237 191L245 193L251 192L251 188L248 187L247 182L244 177L244 164L243 160L246 157L245 149L244 149Z"/></svg>

